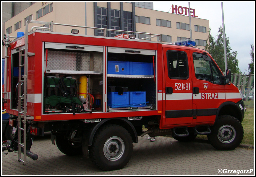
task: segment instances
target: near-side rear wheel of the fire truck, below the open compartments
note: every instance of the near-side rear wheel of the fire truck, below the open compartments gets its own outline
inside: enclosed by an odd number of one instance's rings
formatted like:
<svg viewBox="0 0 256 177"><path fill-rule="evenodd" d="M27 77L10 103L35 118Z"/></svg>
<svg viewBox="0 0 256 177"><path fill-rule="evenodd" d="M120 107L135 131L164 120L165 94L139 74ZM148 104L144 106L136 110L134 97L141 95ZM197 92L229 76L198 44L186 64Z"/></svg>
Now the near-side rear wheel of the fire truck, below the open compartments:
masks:
<svg viewBox="0 0 256 177"><path fill-rule="evenodd" d="M132 137L124 127L105 125L96 132L89 155L93 163L102 170L117 170L129 162L133 151L132 143Z"/></svg>

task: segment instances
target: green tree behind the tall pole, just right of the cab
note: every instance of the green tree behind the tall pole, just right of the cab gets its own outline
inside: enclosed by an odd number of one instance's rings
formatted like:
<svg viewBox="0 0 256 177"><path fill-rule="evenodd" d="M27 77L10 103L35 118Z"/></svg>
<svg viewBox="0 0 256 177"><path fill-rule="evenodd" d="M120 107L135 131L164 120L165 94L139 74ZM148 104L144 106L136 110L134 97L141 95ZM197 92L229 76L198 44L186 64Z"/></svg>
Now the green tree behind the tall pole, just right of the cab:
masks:
<svg viewBox="0 0 256 177"><path fill-rule="evenodd" d="M207 38L205 50L207 50L213 59L216 61L221 71L225 73L225 59L224 59L224 45L223 45L223 31L219 27L218 34L215 40L212 36L211 29L209 31L209 36ZM226 51L227 51L227 66L231 69L232 73L241 74L241 70L238 67L238 59L236 59L237 51L231 52L231 47L229 47L229 37L226 35Z"/></svg>

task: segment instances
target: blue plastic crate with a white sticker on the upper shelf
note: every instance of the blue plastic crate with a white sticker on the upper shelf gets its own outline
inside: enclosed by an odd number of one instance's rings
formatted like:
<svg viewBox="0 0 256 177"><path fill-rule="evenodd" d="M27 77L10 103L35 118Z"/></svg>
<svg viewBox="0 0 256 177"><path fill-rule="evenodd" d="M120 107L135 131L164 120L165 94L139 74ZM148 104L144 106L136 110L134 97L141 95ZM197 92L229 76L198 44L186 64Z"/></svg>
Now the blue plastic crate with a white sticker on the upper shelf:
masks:
<svg viewBox="0 0 256 177"><path fill-rule="evenodd" d="M129 61L108 61L108 74L130 74Z"/></svg>

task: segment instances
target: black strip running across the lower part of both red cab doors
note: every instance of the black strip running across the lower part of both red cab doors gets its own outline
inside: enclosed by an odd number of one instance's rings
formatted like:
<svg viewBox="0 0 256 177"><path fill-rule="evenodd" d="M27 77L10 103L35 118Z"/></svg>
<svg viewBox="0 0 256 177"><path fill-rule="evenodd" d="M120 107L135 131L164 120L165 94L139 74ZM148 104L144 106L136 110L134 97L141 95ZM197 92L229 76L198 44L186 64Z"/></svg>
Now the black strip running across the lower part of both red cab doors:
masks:
<svg viewBox="0 0 256 177"><path fill-rule="evenodd" d="M217 114L217 110L218 110L217 108L213 108L213 109L187 109L187 110L165 111L165 116L167 119L178 118L178 117L214 116Z"/></svg>

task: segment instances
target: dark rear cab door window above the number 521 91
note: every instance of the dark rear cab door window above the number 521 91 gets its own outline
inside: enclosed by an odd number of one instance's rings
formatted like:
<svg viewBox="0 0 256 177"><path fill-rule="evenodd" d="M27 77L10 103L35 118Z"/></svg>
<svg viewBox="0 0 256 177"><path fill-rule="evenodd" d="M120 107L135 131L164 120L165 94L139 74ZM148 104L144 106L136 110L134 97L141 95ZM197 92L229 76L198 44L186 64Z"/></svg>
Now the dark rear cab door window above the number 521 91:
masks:
<svg viewBox="0 0 256 177"><path fill-rule="evenodd" d="M182 51L167 51L167 64L169 78L187 79L189 76L187 53Z"/></svg>

